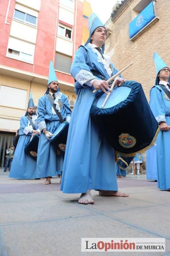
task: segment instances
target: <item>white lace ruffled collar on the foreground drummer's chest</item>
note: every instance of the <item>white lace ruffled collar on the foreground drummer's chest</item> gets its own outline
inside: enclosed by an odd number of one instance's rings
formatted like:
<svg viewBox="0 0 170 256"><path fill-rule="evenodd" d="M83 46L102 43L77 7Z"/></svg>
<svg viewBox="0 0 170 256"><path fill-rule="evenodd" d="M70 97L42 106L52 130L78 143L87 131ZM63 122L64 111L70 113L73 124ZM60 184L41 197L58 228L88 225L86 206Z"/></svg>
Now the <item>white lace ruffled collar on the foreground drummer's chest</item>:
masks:
<svg viewBox="0 0 170 256"><path fill-rule="evenodd" d="M109 67L111 61L110 61L110 56L106 55L106 54L103 54L103 57L104 59L102 58L102 55L99 53L99 51L97 49L95 49L97 46L95 44L91 44L91 43L88 43L87 44L87 47L88 48L91 48L91 50L97 54L98 58L98 62L99 63L102 63L103 66L104 66L104 69L106 70L107 74L109 76L111 76L111 73L112 73L112 70L111 68ZM101 49L101 48L100 48ZM101 49L102 50L102 49Z"/></svg>

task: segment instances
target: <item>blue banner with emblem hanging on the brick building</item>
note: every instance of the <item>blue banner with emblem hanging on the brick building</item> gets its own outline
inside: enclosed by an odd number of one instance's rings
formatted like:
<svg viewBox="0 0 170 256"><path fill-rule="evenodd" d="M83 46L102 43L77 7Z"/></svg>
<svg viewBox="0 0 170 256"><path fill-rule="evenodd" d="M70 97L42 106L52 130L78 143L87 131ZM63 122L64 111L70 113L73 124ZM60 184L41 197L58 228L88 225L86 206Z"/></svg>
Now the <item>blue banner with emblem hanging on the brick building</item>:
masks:
<svg viewBox="0 0 170 256"><path fill-rule="evenodd" d="M132 38L143 27L145 27L151 20L155 18L153 2L151 1L138 16L129 23L129 36Z"/></svg>

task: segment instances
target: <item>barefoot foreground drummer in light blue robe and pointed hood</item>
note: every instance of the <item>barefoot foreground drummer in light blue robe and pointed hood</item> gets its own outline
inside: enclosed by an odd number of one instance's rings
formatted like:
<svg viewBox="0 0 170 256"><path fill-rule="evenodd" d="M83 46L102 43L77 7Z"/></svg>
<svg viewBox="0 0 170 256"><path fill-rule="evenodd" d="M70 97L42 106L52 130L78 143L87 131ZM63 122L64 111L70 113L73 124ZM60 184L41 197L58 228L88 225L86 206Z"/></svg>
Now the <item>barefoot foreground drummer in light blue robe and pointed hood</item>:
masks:
<svg viewBox="0 0 170 256"><path fill-rule="evenodd" d="M103 54L107 31L99 18L92 14L89 20L90 37L80 46L71 66L78 94L68 131L61 190L63 193L82 193L80 204L94 203L91 189L100 196L128 196L118 191L114 150L90 117L94 89L107 94L109 79L118 71ZM120 76L117 85L124 79ZM115 120L116 125L116 120Z"/></svg>

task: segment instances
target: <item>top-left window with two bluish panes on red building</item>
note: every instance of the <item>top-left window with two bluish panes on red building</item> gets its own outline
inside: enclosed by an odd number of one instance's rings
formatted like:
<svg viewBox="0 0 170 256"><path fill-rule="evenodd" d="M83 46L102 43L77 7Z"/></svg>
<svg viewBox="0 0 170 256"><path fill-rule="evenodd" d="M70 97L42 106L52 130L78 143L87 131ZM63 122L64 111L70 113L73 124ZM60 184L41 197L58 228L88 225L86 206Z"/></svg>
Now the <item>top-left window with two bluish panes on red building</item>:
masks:
<svg viewBox="0 0 170 256"><path fill-rule="evenodd" d="M32 26L36 26L37 24L37 17L16 9L15 9L13 18Z"/></svg>

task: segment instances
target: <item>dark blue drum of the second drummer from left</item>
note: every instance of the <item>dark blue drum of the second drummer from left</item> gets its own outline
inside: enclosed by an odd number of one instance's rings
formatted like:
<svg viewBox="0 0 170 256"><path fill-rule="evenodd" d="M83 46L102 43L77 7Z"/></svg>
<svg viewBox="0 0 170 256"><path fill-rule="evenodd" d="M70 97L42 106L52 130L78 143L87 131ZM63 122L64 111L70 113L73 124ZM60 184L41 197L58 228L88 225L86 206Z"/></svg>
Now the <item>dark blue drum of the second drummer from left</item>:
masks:
<svg viewBox="0 0 170 256"><path fill-rule="evenodd" d="M51 136L49 142L60 151L66 150L66 142L67 142L67 135L68 135L68 128L69 123L67 121L61 123L59 127L56 129L53 134L55 136Z"/></svg>

